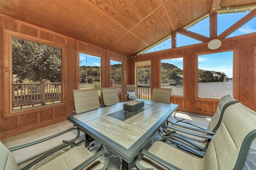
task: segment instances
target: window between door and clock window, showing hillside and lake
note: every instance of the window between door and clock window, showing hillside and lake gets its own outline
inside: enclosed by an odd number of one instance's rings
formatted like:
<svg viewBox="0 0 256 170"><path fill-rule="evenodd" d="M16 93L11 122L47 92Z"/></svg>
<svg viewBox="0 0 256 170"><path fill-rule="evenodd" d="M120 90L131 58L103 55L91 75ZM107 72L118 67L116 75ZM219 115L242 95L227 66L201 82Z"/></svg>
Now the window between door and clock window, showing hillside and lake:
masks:
<svg viewBox="0 0 256 170"><path fill-rule="evenodd" d="M183 96L183 58L161 60L161 88L172 88L172 94Z"/></svg>

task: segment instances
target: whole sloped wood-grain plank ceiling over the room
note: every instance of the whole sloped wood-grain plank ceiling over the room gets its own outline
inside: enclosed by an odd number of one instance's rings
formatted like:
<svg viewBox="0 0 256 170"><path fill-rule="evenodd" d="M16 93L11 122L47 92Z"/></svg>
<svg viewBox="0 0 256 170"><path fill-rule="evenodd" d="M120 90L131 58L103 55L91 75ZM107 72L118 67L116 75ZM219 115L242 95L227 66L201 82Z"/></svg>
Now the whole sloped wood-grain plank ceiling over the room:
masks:
<svg viewBox="0 0 256 170"><path fill-rule="evenodd" d="M0 0L1 14L131 56L221 8L256 0Z"/></svg>

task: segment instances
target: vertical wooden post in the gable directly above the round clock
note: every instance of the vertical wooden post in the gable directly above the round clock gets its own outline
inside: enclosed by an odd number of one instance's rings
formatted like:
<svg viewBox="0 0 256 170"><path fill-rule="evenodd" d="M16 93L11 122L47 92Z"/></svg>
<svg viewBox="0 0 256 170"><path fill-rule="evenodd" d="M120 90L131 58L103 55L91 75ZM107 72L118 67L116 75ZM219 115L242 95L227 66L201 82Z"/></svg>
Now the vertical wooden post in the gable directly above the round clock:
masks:
<svg viewBox="0 0 256 170"><path fill-rule="evenodd" d="M210 9L210 37L217 38L217 11L220 6L220 0L212 1L212 8Z"/></svg>

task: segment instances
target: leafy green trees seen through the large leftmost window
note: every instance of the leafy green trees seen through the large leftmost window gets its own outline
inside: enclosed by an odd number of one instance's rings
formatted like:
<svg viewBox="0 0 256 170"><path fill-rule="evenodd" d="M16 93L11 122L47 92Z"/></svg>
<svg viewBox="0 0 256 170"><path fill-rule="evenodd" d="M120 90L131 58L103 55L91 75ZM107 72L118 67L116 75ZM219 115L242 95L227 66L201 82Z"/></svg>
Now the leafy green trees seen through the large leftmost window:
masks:
<svg viewBox="0 0 256 170"><path fill-rule="evenodd" d="M61 82L61 56L60 48L13 38L12 70L21 81Z"/></svg>

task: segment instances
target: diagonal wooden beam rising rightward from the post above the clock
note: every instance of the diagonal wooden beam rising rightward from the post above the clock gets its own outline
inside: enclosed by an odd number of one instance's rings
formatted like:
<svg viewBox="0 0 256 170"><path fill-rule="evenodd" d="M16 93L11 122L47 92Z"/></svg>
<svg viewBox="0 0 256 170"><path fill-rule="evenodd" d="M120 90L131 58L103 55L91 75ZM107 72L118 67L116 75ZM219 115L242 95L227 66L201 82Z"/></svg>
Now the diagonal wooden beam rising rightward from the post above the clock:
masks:
<svg viewBox="0 0 256 170"><path fill-rule="evenodd" d="M226 36L228 36L230 33L232 33L233 31L235 31L236 29L238 29L239 27L241 27L242 25L244 25L244 23L246 23L247 21L249 21L250 19L254 18L256 16L256 8L254 10L252 10L249 14L247 14L246 16L244 16L241 20L237 21L236 23L234 23L231 27L229 27L228 29L226 29L225 31L223 31L223 33L221 33L218 36L218 39L222 39L225 38Z"/></svg>

